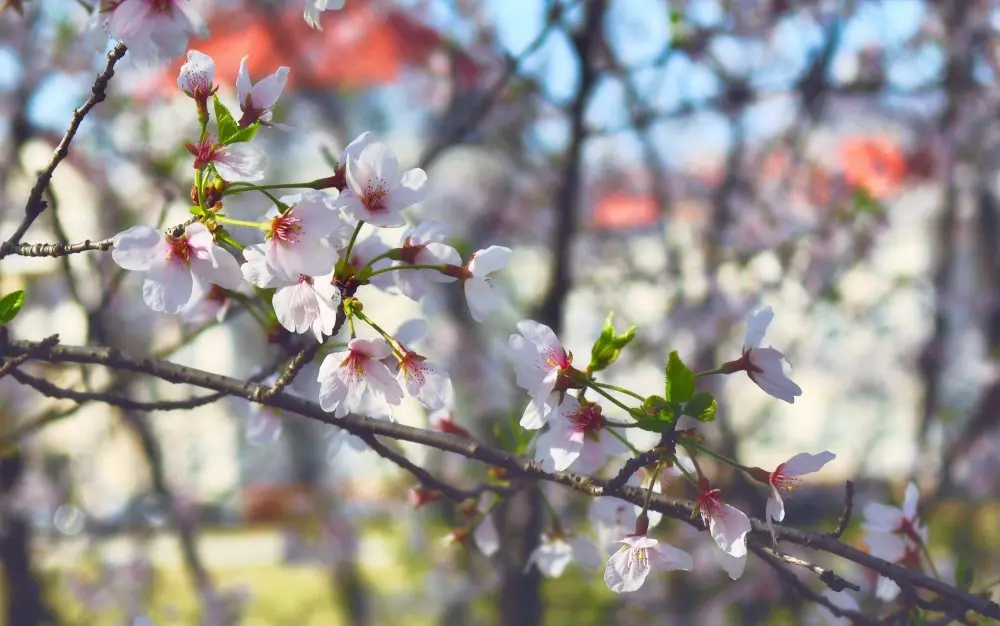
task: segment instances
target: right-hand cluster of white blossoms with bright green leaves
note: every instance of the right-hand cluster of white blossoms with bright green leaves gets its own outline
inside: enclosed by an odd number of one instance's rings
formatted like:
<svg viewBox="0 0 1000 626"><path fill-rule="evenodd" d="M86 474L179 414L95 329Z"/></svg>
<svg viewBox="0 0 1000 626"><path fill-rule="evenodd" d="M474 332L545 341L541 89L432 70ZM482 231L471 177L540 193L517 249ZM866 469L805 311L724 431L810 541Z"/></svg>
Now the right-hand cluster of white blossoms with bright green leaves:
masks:
<svg viewBox="0 0 1000 626"><path fill-rule="evenodd" d="M761 345L768 324L773 318L770 308L751 313L747 322L747 337L741 356L723 364L716 370L695 374L687 369L676 353L667 363L664 396L645 397L630 390L600 382L596 372L610 366L620 351L631 341L634 329L623 335L616 334L611 319L595 342L590 363L578 369L573 354L559 341L548 326L533 320L517 325L509 345L514 360L518 386L529 396L527 408L520 425L528 431L540 431L534 440L535 459L542 469L550 472L572 469L592 474L610 461L628 453L638 454L652 450L658 453L655 469L644 488L648 495L660 489L657 477L672 471L683 476L694 488L698 513L719 548L718 561L732 579L743 574L747 558L747 534L751 530L750 518L723 499L722 491L713 486L703 473L696 457L706 451L695 429L679 430L678 418L690 416L700 421L711 421L715 414L715 400L705 392L695 390L696 380L710 374L729 374L746 371L750 379L768 394L788 402L801 394L799 387L787 376L784 355L778 350ZM571 393L575 392L575 393ZM585 398L587 392L598 397ZM616 396L615 394L620 394ZM641 400L640 406L629 406L620 399ZM625 416L610 419L605 411L624 412ZM544 430L543 430L544 429ZM660 434L658 443L646 450L639 450L628 435L629 429L639 429ZM687 455L681 450L687 451ZM690 456L688 456L690 455ZM718 456L714 453L712 456ZM790 491L803 474L818 471L831 461L830 452L798 454L773 471L733 466L770 490L767 503L768 523L782 521L785 517L782 492ZM615 592L639 589L653 567L668 570L690 570L691 555L666 545L648 535L651 525L660 516L646 505L618 505L618 522L612 527L624 529L618 535L607 562L604 580ZM621 523L621 515L632 517ZM655 516L655 517L654 517ZM605 516L605 522L607 516ZM634 528L631 527L634 524ZM557 525L558 528L558 525ZM772 532L773 527L772 527ZM607 542L607 538L599 540ZM608 547L605 545L605 547ZM568 554L562 548L561 554Z"/></svg>

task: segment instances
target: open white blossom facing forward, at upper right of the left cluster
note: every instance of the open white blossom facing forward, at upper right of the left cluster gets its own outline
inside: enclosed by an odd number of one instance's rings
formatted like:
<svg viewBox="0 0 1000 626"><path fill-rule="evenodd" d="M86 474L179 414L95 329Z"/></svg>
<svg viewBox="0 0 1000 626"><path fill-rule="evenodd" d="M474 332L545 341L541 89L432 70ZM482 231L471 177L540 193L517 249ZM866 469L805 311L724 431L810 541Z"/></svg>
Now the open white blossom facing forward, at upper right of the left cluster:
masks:
<svg viewBox="0 0 1000 626"><path fill-rule="evenodd" d="M427 174L414 168L400 175L392 150L369 143L357 156L347 155L344 210L375 226L405 226L401 211L424 197Z"/></svg>

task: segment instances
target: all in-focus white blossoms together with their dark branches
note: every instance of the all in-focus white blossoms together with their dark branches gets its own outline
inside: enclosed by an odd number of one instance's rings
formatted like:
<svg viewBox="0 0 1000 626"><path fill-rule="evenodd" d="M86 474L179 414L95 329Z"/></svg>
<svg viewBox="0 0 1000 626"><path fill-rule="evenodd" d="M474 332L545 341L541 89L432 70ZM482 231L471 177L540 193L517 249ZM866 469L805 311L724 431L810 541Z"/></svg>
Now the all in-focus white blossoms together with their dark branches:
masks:
<svg viewBox="0 0 1000 626"><path fill-rule="evenodd" d="M318 28L319 13L342 4L309 0L305 19ZM0 365L0 376L14 373L19 381L28 381L53 397L125 405L127 399L46 386L44 381L32 381L17 372L30 359L96 363L202 385L223 395L243 395L261 407L298 412L339 426L343 437L337 440L338 446L350 437L350 445L372 448L421 483L411 491L415 506L442 497L456 500L459 522L444 542L471 542L487 557L500 549L493 513L504 498L525 488L530 484L528 479L562 484L575 480L578 491L595 496L586 523L571 527L543 494L548 524L526 567L558 577L572 563L590 568L603 563L607 587L616 593L629 593L639 590L654 570L717 566L736 580L754 552L765 560L775 560L779 567L784 562L819 574L827 589L822 595L814 594L813 599L822 607L827 623L872 623L860 612L855 597L845 591L860 590L859 585L778 551L779 542L792 536L781 526L785 521L784 498L803 476L833 461L834 453L802 452L773 469L764 469L743 465L706 442L704 433L715 419L717 402L711 393L699 389L700 380L744 372L764 393L789 404L803 393L790 377L784 353L765 344L774 318L770 307L759 307L749 314L742 350L713 369L693 371L678 352L671 352L664 366L663 391L656 394L605 381L605 372L632 344L635 327L619 332L609 315L589 359L582 362L575 360L552 328L532 319L521 320L507 343L516 384L527 395L516 444L512 450L500 452L480 447L453 415L454 390L448 373L414 349L424 331L422 322L412 320L396 333L387 332L378 319L379 311L366 306L368 292L363 289L420 301L431 297L439 286L459 283L469 315L483 322L503 305L498 281L512 262L512 251L490 245L463 258L447 243L443 224L414 221L410 209L425 198L427 173L420 168L401 168L392 148L371 132L346 146L330 164L328 176L262 183L267 178L268 158L255 139L259 132L287 128L275 120L274 112L289 68L277 68L254 82L247 70L248 57L243 57L234 80L237 114L217 95L213 60L187 49L188 37L202 33L204 24L186 2L102 1L94 10L95 24L124 44L110 57L104 86L125 46L140 58L187 53L177 85L193 100L200 126L198 136L185 143L193 159L191 218L165 231L140 224L118 233L107 245L64 246L61 250L65 254L110 250L118 266L142 274L142 300L153 311L189 318L215 317L223 322L229 311L239 307L268 338L278 342L305 335L301 342L305 347L297 341L289 344L300 351L269 385L248 382L241 387L223 377L153 360L134 361L110 350L60 351L57 337L37 344L15 342L5 332L0 352L6 360ZM68 143L72 135L67 137ZM48 174L51 176L51 171ZM270 207L255 220L237 219L228 209L231 200L241 194L263 194ZM44 205L40 206L28 211L31 219L25 229L44 210ZM395 245L384 242L384 229L404 227ZM5 244L5 254L18 250L19 237ZM22 292L0 300L0 323L6 324L17 315L24 298ZM367 330L359 333L359 328ZM309 391L286 393L292 391L289 385L303 376L308 377ZM385 425L393 424L393 407L405 395L432 413L438 432L417 435ZM318 406L320 417L306 410L312 405L303 408L295 404L290 400L293 396ZM358 417L362 414L384 419L375 425L375 420ZM254 428L266 429L266 420L271 419L279 418L259 417ZM445 438L436 439L436 435ZM435 478L378 439L394 436L458 452L499 469L478 489L465 490ZM463 448L463 442L472 443ZM522 463L525 458L533 461ZM720 486L727 477L720 468L740 472L761 485L766 497L764 522L753 520L730 501ZM612 477L597 478L602 475ZM689 508L683 503L672 508L664 504L662 495L674 483L688 489L693 500ZM845 526L850 521L850 498L842 520ZM924 568L935 579L940 576L927 548L927 527L917 516L917 498L917 488L911 484L901 508L867 503L863 510L865 542L872 560L865 561L839 542L838 554L850 554L857 562L876 569L880 574L877 597L893 601L903 596L907 611L919 608L921 602L947 610L957 603L963 615L967 611L1000 615L1000 607L979 595L937 586L939 581L933 579L927 582ZM701 562L652 536L665 525L668 516L664 511L707 530L714 544L712 563ZM688 514L686 520L684 513ZM760 536L767 538L768 532L770 545L760 540ZM840 528L829 541L839 539L842 532ZM754 533L758 533L756 539ZM813 541L813 536L803 537L797 543L821 543ZM917 573L908 578L908 570ZM919 595L927 595L927 589L936 596L928 599Z"/></svg>

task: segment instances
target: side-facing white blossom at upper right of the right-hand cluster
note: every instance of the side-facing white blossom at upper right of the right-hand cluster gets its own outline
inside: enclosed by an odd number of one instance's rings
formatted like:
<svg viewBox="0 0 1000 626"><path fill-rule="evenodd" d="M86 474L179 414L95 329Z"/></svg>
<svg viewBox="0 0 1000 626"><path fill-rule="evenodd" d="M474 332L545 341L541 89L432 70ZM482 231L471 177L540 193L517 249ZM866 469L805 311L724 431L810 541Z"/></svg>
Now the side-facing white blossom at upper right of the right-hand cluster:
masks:
<svg viewBox="0 0 1000 626"><path fill-rule="evenodd" d="M727 374L745 371L765 393L793 404L796 396L802 395L802 388L788 377L786 369L789 366L785 355L770 346L761 345L772 319L774 311L769 306L758 308L747 316L743 355L724 364L722 371Z"/></svg>

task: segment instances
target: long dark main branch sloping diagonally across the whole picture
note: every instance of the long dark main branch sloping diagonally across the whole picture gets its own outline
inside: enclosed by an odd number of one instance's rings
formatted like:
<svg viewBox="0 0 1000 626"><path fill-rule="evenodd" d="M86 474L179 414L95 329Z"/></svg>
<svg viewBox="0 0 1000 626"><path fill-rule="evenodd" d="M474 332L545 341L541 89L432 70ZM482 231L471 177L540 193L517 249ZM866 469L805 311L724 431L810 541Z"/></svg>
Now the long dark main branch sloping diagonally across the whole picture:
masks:
<svg viewBox="0 0 1000 626"><path fill-rule="evenodd" d="M39 344L30 341L12 341L0 346L0 355L17 357L27 352L33 352L32 358L50 363L83 363L103 365L136 373L149 374L168 382L188 384L223 392L234 397L253 400L259 397L261 385L205 372L191 367L177 365L154 358L133 358L119 350L91 346L49 346L39 348ZM590 496L611 496L641 505L647 492L630 486L612 488L609 480L594 478L575 472L546 472L533 460L521 458L513 454L482 445L448 433L414 428L395 422L387 422L359 415L348 414L335 418L324 412L319 405L308 400L292 396L286 392L276 394L261 402L266 406L298 413L317 421L337 426L348 432L363 437L379 435L400 441L410 441L429 446L438 450L452 452L468 459L474 459L488 465L506 469L513 477L537 478L560 484L574 491ZM650 509L659 511L669 517L687 523L699 530L705 530L698 517L698 506L694 502L668 498L662 494L652 494ZM759 519L751 519L753 532L766 536L768 525ZM953 587L945 582L930 578L923 573L910 570L895 563L890 563L867 552L841 543L838 539L824 533L774 526L774 535L778 540L800 545L812 550L826 552L853 561L882 576L892 579L900 588L923 589L940 596L941 600L955 606L964 606L969 611L975 611L986 617L1000 619L1000 605L987 597L974 595ZM751 542L752 544L752 542Z"/></svg>

